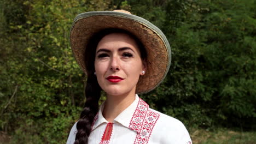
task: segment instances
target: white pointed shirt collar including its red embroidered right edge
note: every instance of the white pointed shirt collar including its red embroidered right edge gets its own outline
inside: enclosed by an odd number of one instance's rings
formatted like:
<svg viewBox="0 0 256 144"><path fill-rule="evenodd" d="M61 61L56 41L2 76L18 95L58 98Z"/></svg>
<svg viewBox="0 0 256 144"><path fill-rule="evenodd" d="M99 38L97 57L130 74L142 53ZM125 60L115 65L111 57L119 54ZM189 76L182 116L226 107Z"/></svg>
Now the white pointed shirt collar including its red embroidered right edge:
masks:
<svg viewBox="0 0 256 144"><path fill-rule="evenodd" d="M103 123L108 123L108 121L103 117L102 111L104 108L104 103L101 105L100 110L95 116L94 123L92 124L92 130L96 129L99 125ZM120 123L131 130L141 133L141 129L144 121L152 121L153 119L148 116L149 106L138 97L136 94L135 101L127 107L123 112L121 112L115 119L113 123Z"/></svg>

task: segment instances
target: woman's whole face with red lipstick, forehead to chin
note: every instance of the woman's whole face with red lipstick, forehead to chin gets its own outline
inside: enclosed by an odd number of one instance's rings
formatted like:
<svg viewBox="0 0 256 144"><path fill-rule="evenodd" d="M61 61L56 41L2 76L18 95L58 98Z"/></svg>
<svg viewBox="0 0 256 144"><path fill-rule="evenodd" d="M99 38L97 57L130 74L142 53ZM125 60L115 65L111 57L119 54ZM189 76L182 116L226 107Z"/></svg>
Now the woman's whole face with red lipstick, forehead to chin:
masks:
<svg viewBox="0 0 256 144"><path fill-rule="evenodd" d="M108 95L135 93L139 75L146 70L135 40L124 33L100 40L94 64L98 83Z"/></svg>

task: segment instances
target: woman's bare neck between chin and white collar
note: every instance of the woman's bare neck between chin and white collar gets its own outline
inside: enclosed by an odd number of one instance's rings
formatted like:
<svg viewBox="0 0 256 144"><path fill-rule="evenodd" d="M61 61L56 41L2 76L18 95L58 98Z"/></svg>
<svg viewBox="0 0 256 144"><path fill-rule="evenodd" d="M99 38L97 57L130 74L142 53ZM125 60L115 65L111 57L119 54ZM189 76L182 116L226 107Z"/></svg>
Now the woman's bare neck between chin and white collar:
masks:
<svg viewBox="0 0 256 144"><path fill-rule="evenodd" d="M135 100L135 91L123 95L108 95L105 101L103 117L110 123Z"/></svg>

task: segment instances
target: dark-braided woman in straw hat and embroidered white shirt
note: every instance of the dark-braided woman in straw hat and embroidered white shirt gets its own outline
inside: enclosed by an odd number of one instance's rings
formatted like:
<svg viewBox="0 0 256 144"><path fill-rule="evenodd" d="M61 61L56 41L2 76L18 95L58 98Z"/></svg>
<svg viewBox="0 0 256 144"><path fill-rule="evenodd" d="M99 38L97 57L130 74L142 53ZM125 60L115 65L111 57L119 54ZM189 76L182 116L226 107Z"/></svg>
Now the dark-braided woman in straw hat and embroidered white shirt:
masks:
<svg viewBox="0 0 256 144"><path fill-rule="evenodd" d="M88 80L68 144L191 143L181 122L137 95L157 87L170 67L170 45L160 29L124 10L83 13L71 28L71 47ZM98 110L101 90L107 100Z"/></svg>

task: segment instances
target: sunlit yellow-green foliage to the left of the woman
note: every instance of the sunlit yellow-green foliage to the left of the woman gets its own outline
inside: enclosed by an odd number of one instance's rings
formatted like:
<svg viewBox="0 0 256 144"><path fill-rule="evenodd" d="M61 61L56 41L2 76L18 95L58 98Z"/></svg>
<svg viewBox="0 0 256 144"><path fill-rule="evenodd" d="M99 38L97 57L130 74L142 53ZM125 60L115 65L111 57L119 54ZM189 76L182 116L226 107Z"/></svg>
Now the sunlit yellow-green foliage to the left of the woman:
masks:
<svg viewBox="0 0 256 144"><path fill-rule="evenodd" d="M84 74L69 46L74 16L108 1L1 3L0 130L11 143L65 143L84 103ZM9 7L4 7L9 5ZM15 10L13 10L15 9Z"/></svg>

